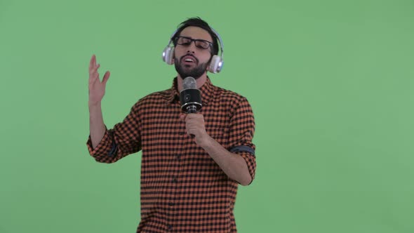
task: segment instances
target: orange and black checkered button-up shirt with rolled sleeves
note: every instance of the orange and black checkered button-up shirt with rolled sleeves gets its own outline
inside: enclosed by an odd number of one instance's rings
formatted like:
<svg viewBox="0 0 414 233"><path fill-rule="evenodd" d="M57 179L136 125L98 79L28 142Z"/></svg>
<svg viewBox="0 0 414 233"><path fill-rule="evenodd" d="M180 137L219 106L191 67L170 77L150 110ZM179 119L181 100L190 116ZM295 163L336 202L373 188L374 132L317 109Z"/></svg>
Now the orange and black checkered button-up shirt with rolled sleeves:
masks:
<svg viewBox="0 0 414 233"><path fill-rule="evenodd" d="M173 87L147 95L100 144L87 145L96 161L113 163L142 150L141 221L137 232L236 232L233 209L238 183L187 135L180 120L177 78ZM246 160L255 176L255 121L246 98L201 86L208 135Z"/></svg>

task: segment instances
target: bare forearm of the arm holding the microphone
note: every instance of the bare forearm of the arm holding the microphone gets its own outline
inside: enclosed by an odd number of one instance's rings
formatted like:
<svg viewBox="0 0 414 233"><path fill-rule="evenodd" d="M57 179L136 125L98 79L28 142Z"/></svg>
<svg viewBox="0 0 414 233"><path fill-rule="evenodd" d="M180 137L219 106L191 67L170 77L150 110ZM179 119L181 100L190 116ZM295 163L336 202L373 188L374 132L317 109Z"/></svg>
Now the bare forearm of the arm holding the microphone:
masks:
<svg viewBox="0 0 414 233"><path fill-rule="evenodd" d="M241 185L249 185L251 183L252 178L246 161L239 154L229 152L210 136L207 137L201 147L206 150L229 178L236 180Z"/></svg>

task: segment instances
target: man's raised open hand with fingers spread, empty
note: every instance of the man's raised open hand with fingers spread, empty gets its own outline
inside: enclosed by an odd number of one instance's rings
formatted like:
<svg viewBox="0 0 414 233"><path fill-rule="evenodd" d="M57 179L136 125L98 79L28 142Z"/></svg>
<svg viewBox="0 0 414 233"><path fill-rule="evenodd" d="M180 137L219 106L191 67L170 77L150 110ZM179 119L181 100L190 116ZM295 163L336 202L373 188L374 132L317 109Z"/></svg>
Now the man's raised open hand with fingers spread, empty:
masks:
<svg viewBox="0 0 414 233"><path fill-rule="evenodd" d="M110 73L109 71L105 72L102 81L100 81L99 67L100 65L96 64L95 55L92 55L91 62L89 62L89 106L99 104L105 95L105 86Z"/></svg>

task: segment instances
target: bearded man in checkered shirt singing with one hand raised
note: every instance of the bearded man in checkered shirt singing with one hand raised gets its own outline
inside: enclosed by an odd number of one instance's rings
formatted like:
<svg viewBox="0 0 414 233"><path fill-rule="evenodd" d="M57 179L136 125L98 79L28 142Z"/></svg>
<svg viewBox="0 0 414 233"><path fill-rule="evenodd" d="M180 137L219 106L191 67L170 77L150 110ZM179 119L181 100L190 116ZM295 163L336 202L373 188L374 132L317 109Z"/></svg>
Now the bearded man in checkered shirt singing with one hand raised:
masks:
<svg viewBox="0 0 414 233"><path fill-rule="evenodd" d="M110 130L101 110L109 72L100 81L100 65L95 55L91 58L89 153L113 163L142 150L137 232L236 232L237 187L249 185L255 175L255 123L246 98L213 86L207 76L218 38L200 18L182 22L171 38L178 72L172 88L139 100ZM203 107L196 114L180 109L187 76L201 91Z"/></svg>

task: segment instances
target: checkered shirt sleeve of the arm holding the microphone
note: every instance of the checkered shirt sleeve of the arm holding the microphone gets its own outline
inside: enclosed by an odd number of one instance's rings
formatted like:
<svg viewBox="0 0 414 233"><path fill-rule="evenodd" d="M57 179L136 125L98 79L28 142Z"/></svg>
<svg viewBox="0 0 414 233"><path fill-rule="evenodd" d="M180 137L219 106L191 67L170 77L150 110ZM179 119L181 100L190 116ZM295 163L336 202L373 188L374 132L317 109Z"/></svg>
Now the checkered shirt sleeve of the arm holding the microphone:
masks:
<svg viewBox="0 0 414 233"><path fill-rule="evenodd" d="M229 152L239 154L246 161L252 181L255 178L256 157L253 135L255 133L255 119L253 110L246 98L242 98L234 108L230 118Z"/></svg>

